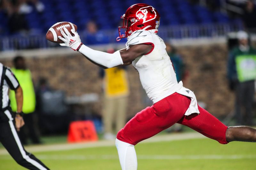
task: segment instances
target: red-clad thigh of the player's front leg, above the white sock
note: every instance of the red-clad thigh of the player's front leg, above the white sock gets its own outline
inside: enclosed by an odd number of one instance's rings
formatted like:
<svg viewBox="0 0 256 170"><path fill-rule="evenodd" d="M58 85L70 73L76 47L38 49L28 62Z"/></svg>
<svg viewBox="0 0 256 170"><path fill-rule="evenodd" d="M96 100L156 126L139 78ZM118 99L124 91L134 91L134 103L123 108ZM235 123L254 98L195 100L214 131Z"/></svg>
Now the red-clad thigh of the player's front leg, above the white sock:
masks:
<svg viewBox="0 0 256 170"><path fill-rule="evenodd" d="M190 101L186 96L173 93L137 113L117 133L117 139L136 145L156 135L178 122L184 116Z"/></svg>

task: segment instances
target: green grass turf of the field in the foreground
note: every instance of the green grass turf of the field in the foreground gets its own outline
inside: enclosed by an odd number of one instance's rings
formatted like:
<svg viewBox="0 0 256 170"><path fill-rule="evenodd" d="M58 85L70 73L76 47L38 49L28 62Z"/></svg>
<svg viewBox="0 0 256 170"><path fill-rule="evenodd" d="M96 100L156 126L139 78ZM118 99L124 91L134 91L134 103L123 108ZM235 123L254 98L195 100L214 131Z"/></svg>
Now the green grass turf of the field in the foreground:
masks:
<svg viewBox="0 0 256 170"><path fill-rule="evenodd" d="M211 139L188 139L135 146L139 170L232 169L252 170L256 166L255 143L221 145ZM120 170L116 147L95 147L66 151L36 152L51 169ZM24 169L9 155L0 155L0 169Z"/></svg>

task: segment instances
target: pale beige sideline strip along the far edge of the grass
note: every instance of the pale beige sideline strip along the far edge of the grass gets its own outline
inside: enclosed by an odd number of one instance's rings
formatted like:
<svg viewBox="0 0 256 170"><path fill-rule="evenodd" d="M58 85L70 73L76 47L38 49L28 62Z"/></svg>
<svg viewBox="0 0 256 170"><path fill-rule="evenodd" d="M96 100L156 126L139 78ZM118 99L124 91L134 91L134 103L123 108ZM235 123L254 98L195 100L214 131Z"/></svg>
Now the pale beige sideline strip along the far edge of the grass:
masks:
<svg viewBox="0 0 256 170"><path fill-rule="evenodd" d="M195 139L204 138L200 133L180 133L180 134L169 134L169 135L156 135L141 143L152 143L161 141L174 141L174 140L184 140L184 139ZM87 143L75 143L75 144L51 144L51 145L36 145L27 146L25 149L28 152L47 152L47 151L62 151L62 150L72 150L81 148L93 148L93 147L104 147L104 146L115 146L115 140L100 140L97 142L87 142ZM0 149L0 155L6 155L8 152L3 148Z"/></svg>

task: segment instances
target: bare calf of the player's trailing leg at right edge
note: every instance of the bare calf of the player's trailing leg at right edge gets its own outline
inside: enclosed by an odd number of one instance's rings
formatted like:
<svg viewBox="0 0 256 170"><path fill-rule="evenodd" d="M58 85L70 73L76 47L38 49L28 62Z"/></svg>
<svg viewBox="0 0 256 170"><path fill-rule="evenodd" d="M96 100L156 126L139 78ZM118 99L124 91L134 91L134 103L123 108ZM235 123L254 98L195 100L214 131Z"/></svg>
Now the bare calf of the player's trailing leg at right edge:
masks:
<svg viewBox="0 0 256 170"><path fill-rule="evenodd" d="M249 126L230 126L227 129L226 138L228 142L256 142L256 129Z"/></svg>

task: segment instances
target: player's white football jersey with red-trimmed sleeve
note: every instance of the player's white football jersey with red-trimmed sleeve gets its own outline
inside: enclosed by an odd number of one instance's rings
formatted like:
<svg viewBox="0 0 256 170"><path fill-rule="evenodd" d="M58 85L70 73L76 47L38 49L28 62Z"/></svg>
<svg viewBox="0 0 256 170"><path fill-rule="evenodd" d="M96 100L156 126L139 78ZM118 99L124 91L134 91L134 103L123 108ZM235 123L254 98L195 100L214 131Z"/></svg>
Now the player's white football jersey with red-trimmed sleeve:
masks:
<svg viewBox="0 0 256 170"><path fill-rule="evenodd" d="M168 56L164 41L155 33L145 30L134 31L127 38L126 49L130 45L151 44L152 50L133 60L133 67L138 70L143 89L150 100L159 100L180 90L182 83L177 82L172 62Z"/></svg>

